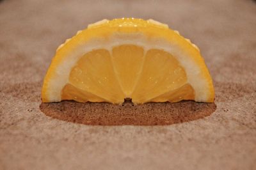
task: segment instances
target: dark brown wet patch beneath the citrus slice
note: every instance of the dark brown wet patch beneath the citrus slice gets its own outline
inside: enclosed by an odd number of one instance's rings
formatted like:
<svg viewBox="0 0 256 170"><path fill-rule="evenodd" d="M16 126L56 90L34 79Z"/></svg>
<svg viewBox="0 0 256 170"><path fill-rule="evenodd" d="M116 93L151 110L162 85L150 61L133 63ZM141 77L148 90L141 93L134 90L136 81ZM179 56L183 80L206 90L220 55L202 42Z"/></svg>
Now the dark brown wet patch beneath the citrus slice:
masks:
<svg viewBox="0 0 256 170"><path fill-rule="evenodd" d="M86 125L171 125L209 116L216 105L193 101L141 105L62 101L42 103L40 109L52 118Z"/></svg>

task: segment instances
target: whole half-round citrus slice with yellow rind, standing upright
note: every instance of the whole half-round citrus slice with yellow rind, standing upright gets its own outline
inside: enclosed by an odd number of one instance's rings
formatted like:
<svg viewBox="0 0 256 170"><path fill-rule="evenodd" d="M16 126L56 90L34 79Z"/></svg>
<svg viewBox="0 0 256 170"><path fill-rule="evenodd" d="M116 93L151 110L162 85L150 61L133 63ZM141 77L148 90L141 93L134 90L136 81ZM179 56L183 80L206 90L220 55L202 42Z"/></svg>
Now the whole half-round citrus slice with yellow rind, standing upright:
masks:
<svg viewBox="0 0 256 170"><path fill-rule="evenodd" d="M196 45L155 20L90 24L56 51L43 102L213 102L211 75Z"/></svg>

